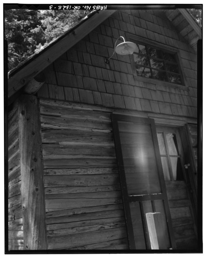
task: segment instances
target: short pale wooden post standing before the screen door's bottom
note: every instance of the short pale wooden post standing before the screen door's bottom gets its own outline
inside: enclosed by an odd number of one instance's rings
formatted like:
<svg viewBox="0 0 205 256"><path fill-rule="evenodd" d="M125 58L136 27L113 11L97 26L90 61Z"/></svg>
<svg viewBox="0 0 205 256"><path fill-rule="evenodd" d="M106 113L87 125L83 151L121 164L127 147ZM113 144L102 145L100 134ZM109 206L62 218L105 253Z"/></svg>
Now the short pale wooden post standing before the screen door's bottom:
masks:
<svg viewBox="0 0 205 256"><path fill-rule="evenodd" d="M164 229L160 212L146 213L147 228L152 250L167 249L164 241Z"/></svg>

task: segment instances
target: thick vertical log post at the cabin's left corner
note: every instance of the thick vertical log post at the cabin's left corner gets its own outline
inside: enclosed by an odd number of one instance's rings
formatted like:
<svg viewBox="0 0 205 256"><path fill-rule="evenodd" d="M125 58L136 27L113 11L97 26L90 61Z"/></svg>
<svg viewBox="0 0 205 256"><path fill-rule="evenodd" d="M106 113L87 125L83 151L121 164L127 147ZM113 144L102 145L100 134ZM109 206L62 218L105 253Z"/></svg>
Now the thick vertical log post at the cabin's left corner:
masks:
<svg viewBox="0 0 205 256"><path fill-rule="evenodd" d="M38 99L18 103L24 250L47 249L43 162Z"/></svg>

